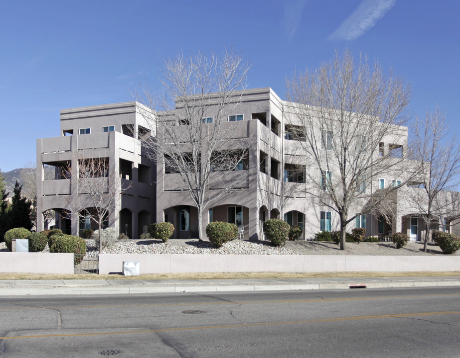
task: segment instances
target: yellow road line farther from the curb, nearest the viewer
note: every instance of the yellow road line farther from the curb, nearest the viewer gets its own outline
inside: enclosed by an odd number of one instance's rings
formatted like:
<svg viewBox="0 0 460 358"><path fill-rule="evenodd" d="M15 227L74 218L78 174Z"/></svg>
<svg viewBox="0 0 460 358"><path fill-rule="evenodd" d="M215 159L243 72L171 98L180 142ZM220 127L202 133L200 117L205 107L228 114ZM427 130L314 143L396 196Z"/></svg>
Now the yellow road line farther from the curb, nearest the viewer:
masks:
<svg viewBox="0 0 460 358"><path fill-rule="evenodd" d="M459 311L418 312L418 313L400 313L400 314L375 315L375 316L334 317L334 318L322 318L322 319L315 319L315 320L292 321L292 322L247 323L247 324L221 325L221 326L163 328L163 329L157 329L157 330L137 330L137 331L118 331L118 332L97 332L97 333L76 333L76 334L55 334L55 335L0 337L0 340L12 340L12 339L24 339L24 338L50 338L50 337L108 336L108 335L133 334L133 333L136 333L136 334L138 334L138 333L159 333L159 332L172 332L172 331L192 331L192 330L205 330L205 329L219 329L219 328L276 326L276 325L289 325L289 324L340 322L340 321L354 321L354 320L382 319L382 318L398 318L398 317L423 317L423 316L450 315L450 314L460 314L460 312Z"/></svg>

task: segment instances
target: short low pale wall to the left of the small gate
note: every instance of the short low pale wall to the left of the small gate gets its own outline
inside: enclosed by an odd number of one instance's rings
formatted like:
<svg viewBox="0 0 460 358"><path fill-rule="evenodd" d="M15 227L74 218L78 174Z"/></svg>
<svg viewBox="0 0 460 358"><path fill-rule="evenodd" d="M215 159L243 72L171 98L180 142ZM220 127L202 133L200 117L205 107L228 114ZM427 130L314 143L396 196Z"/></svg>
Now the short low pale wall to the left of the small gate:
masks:
<svg viewBox="0 0 460 358"><path fill-rule="evenodd" d="M3 273L73 273L73 254L0 252Z"/></svg>

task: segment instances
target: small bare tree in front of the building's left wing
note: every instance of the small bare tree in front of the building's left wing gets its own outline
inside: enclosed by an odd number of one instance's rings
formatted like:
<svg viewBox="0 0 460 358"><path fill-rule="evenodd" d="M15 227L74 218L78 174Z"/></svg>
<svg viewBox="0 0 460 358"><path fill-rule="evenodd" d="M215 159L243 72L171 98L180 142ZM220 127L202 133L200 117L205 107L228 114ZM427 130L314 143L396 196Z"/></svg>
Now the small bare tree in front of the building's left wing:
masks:
<svg viewBox="0 0 460 358"><path fill-rule="evenodd" d="M72 162L74 167L64 168L65 177L76 189L75 193L72 189L67 205L80 219L96 222L101 238L104 220L128 187L123 187L120 175L109 167L109 158L85 157L82 153L75 154Z"/></svg>

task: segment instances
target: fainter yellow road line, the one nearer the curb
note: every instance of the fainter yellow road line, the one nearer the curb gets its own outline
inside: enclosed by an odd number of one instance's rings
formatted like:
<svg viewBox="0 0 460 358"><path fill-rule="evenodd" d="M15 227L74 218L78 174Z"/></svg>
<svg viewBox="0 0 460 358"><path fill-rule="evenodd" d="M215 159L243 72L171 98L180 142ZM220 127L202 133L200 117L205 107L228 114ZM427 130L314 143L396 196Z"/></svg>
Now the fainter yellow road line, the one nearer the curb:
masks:
<svg viewBox="0 0 460 358"><path fill-rule="evenodd" d="M170 307L170 306L206 306L206 305L228 305L228 304L263 304L263 303L308 303L308 302L335 302L335 301L366 301L394 298L426 298L426 297L450 297L459 296L460 294L433 294L433 295L407 295L407 296L385 296L385 297L347 297L347 298L314 298L303 300L269 300L269 301L241 301L241 302L199 302L199 303L152 303L152 304L135 304L135 305L91 305L91 306L57 306L57 307L8 307L0 308L0 311L6 310L36 310L36 309L70 309L70 308L120 308L120 307Z"/></svg>

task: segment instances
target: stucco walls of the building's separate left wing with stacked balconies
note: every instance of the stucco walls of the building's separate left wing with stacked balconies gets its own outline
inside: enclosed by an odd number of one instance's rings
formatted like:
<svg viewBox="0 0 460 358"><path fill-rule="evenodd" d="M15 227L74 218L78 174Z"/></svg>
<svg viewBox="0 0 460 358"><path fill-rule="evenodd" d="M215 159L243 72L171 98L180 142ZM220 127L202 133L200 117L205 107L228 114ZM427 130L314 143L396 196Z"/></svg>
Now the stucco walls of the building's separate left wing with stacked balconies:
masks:
<svg viewBox="0 0 460 358"><path fill-rule="evenodd" d="M120 189L126 189L115 199L115 205L109 212L108 226L120 228L120 232L124 233L120 211L129 210L128 236L139 238L144 226L152 223L156 216L155 167L143 153L141 141L137 139L139 128L149 128L146 110L139 103L127 102L61 111L61 137L37 140L37 231L43 230L43 212L71 212L72 198L77 202L76 195L81 195L75 181L59 176L61 168L70 166L75 178L78 176L78 159L104 157L109 160L110 175L123 174ZM103 126L114 126L115 131L104 133ZM78 131L81 128L91 128L91 133L80 135ZM131 133L123 134L127 129ZM73 135L68 135L69 132ZM57 168L55 180L44 180L44 165ZM143 170L142 178L139 176L140 168ZM128 171L129 175L124 171ZM87 205L91 205L89 200ZM65 229L70 223L70 232L79 235L79 221L75 213L70 214L70 220L58 215L56 225ZM95 225L92 223L92 227Z"/></svg>

